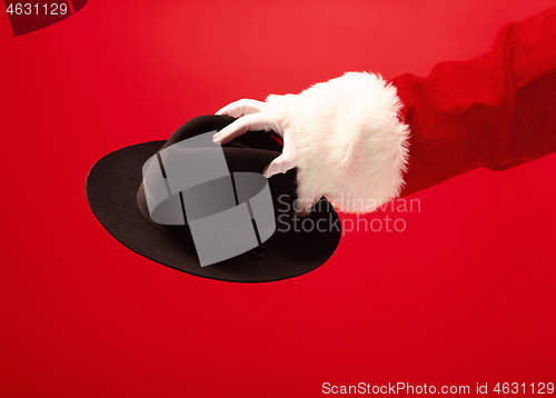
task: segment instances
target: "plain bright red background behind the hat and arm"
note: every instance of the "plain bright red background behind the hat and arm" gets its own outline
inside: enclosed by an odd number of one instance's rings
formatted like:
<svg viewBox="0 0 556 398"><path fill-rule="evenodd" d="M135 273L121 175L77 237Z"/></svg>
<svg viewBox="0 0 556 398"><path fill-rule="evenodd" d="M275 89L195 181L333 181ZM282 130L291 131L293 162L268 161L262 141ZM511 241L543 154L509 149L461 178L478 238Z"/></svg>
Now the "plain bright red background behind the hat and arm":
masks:
<svg viewBox="0 0 556 398"><path fill-rule="evenodd" d="M347 233L314 272L264 285L136 255L85 193L100 157L191 117L348 70L425 76L553 4L95 0L18 38L0 16L0 396L555 382L554 155L418 192L420 212L389 215L406 231Z"/></svg>

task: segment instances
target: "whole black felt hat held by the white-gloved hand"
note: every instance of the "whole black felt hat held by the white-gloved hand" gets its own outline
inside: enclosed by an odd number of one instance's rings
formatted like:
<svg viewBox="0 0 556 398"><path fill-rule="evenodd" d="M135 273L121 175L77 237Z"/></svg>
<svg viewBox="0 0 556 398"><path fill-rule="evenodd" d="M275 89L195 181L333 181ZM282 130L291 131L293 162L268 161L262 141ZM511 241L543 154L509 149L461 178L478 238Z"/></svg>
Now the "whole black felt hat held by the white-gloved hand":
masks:
<svg viewBox="0 0 556 398"><path fill-rule="evenodd" d="M108 232L129 249L199 277L265 282L296 277L316 269L338 246L341 226L336 211L321 198L307 218L294 217L294 203L297 199L296 170L272 176L268 180L262 176L265 166L282 150L268 135L248 131L221 147L201 139L210 138L234 120L236 119L227 116L200 116L181 126L166 142L143 142L105 156L95 163L87 177L87 199L92 212ZM186 141L187 146L183 146ZM181 148L176 151L178 145ZM219 161L219 153L222 152L229 172L227 176L212 176L210 181L197 181L199 183L187 187L181 185L179 192L171 191L169 176L166 175L168 170L165 170L170 161L162 161L170 150L178 163L180 159L187 159L185 163L172 166L177 170L176 176L187 175L192 169L217 169L215 162ZM149 165L156 167L149 169ZM152 199L155 178L149 170L158 170L158 167L161 173L159 182L163 181L159 185L163 187L166 183L168 188L165 200ZM212 171L209 173L214 175ZM228 186L234 187L234 190L228 191ZM229 202L227 196L235 202ZM265 217L260 206L257 210L258 205L252 199L255 197L258 198L258 203L265 202L267 209L274 210L274 218ZM159 202L163 202L163 206L157 207ZM196 240L199 229L196 230L192 225L205 216L211 217L211 213L226 212L236 207L239 209L244 203L247 203L245 208L249 210L247 218L252 221L250 228L255 230L255 235L251 235L257 240L246 252L239 250L241 253L234 255L235 257L207 261L207 252L202 252L197 245L199 240ZM161 208L166 209L166 216L168 211L173 215L169 219L180 221L165 222L165 213L160 216L159 211ZM231 241L242 239L241 233L234 231L225 239L229 238ZM210 255L210 250L208 253ZM207 262L210 265L201 266Z"/></svg>

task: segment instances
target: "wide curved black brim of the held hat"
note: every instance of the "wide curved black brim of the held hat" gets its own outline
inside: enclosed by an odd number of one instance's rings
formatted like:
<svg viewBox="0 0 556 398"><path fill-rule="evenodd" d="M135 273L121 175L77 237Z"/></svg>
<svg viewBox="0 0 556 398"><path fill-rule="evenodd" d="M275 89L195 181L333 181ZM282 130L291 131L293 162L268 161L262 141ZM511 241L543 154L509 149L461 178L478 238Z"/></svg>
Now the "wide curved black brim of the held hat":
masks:
<svg viewBox="0 0 556 398"><path fill-rule="evenodd" d="M264 256L247 252L201 267L192 245L155 227L137 205L142 166L165 142L143 142L111 152L98 160L87 177L87 199L92 212L127 248L190 275L234 282L297 277L320 267L334 253L341 226L334 207L322 198L307 219L297 220L289 235L268 246Z"/></svg>

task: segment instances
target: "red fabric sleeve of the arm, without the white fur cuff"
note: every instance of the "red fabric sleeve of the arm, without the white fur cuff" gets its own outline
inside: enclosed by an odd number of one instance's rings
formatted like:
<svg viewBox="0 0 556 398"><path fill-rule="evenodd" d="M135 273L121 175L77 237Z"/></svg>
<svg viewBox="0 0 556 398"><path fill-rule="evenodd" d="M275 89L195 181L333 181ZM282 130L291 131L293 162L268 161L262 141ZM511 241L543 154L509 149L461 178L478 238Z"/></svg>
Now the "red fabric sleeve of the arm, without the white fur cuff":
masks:
<svg viewBox="0 0 556 398"><path fill-rule="evenodd" d="M486 54L393 83L411 129L401 196L555 152L556 8L503 27Z"/></svg>

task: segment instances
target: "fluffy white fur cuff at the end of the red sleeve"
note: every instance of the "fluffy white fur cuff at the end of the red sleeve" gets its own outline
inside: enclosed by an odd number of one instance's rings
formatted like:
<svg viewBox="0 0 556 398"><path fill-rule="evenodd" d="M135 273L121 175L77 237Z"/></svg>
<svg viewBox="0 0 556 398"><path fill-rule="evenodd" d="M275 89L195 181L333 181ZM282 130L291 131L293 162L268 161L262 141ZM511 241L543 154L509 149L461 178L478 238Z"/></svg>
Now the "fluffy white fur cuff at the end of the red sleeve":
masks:
<svg viewBox="0 0 556 398"><path fill-rule="evenodd" d="M340 211L364 213L399 196L409 127L396 88L380 76L347 72L267 102L290 119L304 208L324 195Z"/></svg>

